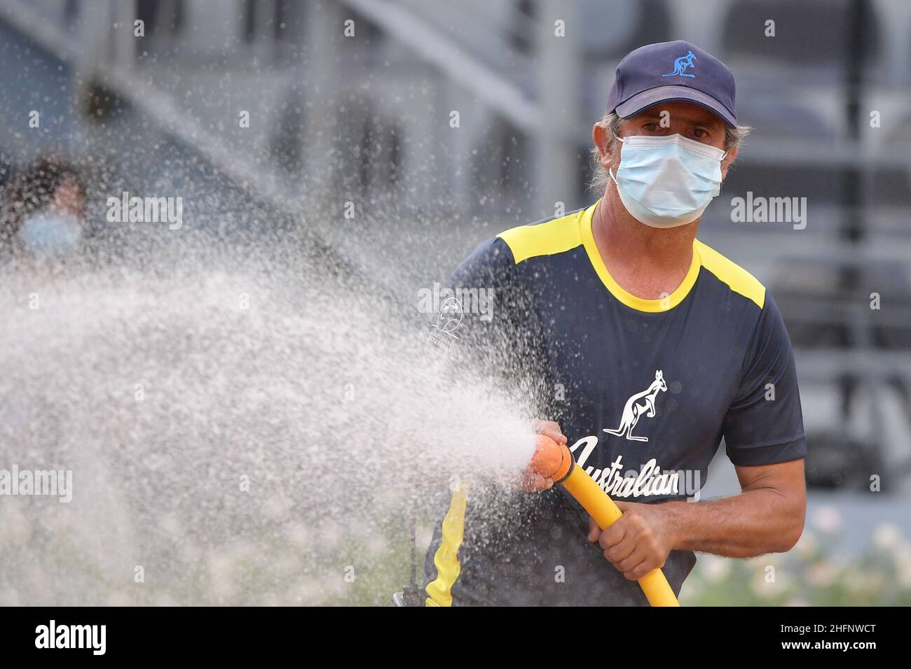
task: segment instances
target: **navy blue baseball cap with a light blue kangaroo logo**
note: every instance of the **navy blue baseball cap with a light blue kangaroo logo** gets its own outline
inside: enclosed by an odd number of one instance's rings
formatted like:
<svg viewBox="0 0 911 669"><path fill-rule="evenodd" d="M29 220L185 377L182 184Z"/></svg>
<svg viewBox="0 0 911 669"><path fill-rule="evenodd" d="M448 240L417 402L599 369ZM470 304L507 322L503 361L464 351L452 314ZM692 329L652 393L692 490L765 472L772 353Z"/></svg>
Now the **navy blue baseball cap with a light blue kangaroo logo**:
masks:
<svg viewBox="0 0 911 669"><path fill-rule="evenodd" d="M608 112L627 118L671 100L704 106L729 126L737 125L734 76L709 52L679 39L640 46L620 61L608 94Z"/></svg>

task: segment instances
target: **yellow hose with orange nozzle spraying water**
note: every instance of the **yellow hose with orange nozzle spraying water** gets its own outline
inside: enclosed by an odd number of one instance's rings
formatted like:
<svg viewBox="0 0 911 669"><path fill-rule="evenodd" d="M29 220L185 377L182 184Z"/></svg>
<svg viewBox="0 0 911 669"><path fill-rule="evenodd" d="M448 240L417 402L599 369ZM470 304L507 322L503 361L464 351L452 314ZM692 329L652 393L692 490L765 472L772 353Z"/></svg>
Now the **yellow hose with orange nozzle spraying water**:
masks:
<svg viewBox="0 0 911 669"><path fill-rule="evenodd" d="M589 512L602 530L617 522L623 512L601 487L573 460L565 444L558 444L543 434L535 437L537 451L531 469L546 479L558 482ZM660 569L653 569L639 580L645 598L652 606L680 606L670 583Z"/></svg>

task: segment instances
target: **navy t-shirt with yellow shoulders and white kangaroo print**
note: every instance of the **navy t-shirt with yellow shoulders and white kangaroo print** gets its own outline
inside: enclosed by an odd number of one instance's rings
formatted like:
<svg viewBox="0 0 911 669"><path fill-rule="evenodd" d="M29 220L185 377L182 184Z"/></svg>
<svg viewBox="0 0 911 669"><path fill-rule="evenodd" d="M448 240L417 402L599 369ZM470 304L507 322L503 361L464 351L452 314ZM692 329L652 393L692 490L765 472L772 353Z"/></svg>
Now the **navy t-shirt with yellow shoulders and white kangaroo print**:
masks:
<svg viewBox="0 0 911 669"><path fill-rule="evenodd" d="M560 424L615 500L692 497L722 438L735 465L803 458L793 350L763 285L696 240L678 289L637 298L595 246L597 206L507 230L466 258L455 295L489 290L493 309L463 305L460 353L507 388L526 383L537 417ZM499 494L492 504L456 487L426 554L428 604L647 605L561 487ZM695 561L670 553L675 593Z"/></svg>

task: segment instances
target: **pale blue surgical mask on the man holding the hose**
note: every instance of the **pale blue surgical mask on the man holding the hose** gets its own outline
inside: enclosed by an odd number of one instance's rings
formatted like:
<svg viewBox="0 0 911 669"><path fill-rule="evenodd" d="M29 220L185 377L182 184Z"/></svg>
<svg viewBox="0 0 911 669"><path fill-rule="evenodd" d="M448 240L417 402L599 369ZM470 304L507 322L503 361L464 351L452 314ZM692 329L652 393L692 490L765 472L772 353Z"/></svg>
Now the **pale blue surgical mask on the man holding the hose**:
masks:
<svg viewBox="0 0 911 669"><path fill-rule="evenodd" d="M622 137L617 184L632 218L652 228L676 228L701 217L722 191L726 151L680 135Z"/></svg>

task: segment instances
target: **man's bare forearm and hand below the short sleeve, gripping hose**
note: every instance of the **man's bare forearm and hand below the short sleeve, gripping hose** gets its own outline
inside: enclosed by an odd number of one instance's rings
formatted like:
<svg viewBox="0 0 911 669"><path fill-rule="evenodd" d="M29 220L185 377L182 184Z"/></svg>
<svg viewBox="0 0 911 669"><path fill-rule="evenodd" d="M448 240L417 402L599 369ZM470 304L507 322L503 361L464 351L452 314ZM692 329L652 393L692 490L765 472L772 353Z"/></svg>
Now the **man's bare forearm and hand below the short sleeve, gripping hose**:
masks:
<svg viewBox="0 0 911 669"><path fill-rule="evenodd" d="M786 552L804 531L804 459L735 467L742 492L707 502L617 501L623 517L589 541L631 581L663 567L670 551L747 558Z"/></svg>

